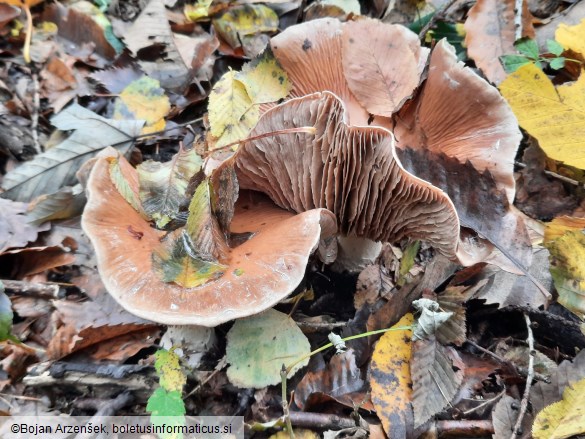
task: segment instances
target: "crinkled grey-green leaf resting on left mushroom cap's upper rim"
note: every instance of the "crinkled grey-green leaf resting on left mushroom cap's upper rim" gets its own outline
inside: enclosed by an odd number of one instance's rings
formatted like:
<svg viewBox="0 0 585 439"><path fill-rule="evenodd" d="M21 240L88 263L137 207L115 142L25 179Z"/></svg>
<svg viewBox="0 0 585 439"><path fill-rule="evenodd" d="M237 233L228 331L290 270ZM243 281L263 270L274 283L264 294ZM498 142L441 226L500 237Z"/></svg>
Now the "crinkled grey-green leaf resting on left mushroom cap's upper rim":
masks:
<svg viewBox="0 0 585 439"><path fill-rule="evenodd" d="M147 160L136 171L140 182L140 201L158 228L179 218L179 207L187 201L187 186L203 164L195 150L181 150L166 163Z"/></svg>

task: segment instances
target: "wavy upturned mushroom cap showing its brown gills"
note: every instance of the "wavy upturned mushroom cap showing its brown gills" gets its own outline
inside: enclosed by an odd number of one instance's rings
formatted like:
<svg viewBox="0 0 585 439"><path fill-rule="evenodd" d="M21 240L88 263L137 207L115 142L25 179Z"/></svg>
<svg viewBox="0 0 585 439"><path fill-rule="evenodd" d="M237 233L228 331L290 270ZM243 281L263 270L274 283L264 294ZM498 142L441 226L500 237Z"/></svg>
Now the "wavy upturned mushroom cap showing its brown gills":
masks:
<svg viewBox="0 0 585 439"><path fill-rule="evenodd" d="M314 127L315 134L280 134L240 147L241 188L264 192L295 212L329 209L345 235L423 239L457 257L459 219L451 200L402 168L388 130L349 126L343 102L323 92L272 108L251 136L295 127Z"/></svg>

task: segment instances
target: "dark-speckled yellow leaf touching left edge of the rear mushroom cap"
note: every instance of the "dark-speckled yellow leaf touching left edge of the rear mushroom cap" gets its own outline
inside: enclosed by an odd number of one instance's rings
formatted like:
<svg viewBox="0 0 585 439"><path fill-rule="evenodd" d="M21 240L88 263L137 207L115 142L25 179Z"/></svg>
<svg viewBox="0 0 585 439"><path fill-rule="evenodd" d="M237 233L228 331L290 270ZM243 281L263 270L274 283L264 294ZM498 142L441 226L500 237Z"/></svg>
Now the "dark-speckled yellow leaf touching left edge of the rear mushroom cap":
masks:
<svg viewBox="0 0 585 439"><path fill-rule="evenodd" d="M284 99L292 88L288 75L268 52L244 65L242 71L236 73L236 79L244 84L255 104Z"/></svg>

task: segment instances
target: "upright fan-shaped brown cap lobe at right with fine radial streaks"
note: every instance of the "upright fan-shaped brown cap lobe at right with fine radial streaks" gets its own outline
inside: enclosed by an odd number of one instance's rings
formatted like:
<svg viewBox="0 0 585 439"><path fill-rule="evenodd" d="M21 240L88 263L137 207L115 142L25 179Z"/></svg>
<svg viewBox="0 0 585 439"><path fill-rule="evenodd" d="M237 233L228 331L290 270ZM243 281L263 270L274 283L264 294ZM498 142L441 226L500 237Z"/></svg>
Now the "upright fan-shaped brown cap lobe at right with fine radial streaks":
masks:
<svg viewBox="0 0 585 439"><path fill-rule="evenodd" d="M397 146L428 148L488 170L514 201L514 158L522 139L518 121L498 90L457 61L441 40L415 102L396 117Z"/></svg>

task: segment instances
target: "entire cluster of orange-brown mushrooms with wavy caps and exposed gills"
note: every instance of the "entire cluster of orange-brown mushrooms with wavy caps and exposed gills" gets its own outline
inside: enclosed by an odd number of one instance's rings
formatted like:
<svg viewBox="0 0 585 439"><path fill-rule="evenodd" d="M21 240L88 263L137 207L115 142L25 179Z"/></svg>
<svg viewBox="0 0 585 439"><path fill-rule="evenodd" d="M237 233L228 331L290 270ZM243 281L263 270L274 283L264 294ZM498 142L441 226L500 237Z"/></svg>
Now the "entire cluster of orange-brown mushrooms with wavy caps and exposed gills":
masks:
<svg viewBox="0 0 585 439"><path fill-rule="evenodd" d="M152 268L163 232L120 195L107 159L94 165L82 224L103 282L124 308L175 325L259 313L289 295L319 244L339 235L421 239L462 265L490 257L489 242L466 239L447 193L405 170L397 152L425 149L489 171L511 204L521 133L494 87L446 41L429 50L408 29L373 19L299 24L270 46L293 90L263 106L250 133L259 140L242 143L215 170L235 170L240 192L229 231L251 236L228 249L221 277L194 288L164 282ZM262 137L303 127L313 129ZM120 164L137 193L135 170Z"/></svg>

